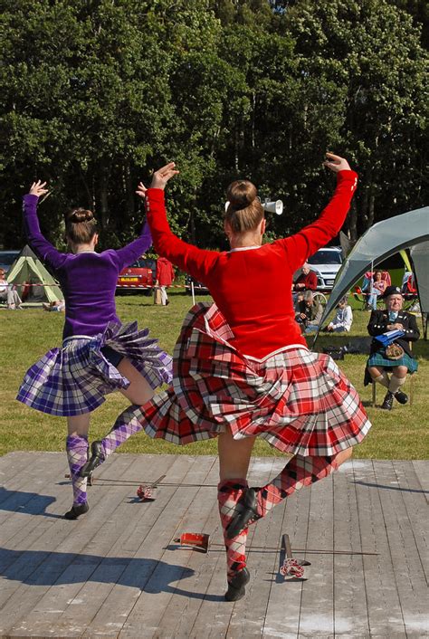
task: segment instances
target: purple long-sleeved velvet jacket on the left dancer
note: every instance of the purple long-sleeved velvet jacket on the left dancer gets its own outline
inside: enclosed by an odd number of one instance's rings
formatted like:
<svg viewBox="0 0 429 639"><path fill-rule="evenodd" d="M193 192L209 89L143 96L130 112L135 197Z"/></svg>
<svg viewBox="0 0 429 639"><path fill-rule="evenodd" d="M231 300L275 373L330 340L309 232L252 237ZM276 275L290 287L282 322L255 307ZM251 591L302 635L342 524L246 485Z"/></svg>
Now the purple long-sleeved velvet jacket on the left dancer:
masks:
<svg viewBox="0 0 429 639"><path fill-rule="evenodd" d="M119 272L152 245L148 224L137 240L119 251L102 253L60 253L41 233L37 219L37 196L24 196L24 224L34 253L60 282L65 300L62 337L97 335L110 321L120 323L116 314L115 290Z"/></svg>

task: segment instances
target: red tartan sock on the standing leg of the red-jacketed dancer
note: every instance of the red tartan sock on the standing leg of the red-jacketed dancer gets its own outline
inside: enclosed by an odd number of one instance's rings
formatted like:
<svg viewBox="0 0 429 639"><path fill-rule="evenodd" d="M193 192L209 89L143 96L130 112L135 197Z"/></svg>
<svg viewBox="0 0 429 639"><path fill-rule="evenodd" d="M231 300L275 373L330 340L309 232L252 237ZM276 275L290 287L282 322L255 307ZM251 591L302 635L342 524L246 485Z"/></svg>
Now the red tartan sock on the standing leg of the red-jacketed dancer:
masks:
<svg viewBox="0 0 429 639"><path fill-rule="evenodd" d="M233 539L226 537L226 528L235 513L237 502L240 501L243 495L243 489L247 487L248 484L243 479L226 480L220 482L217 486L219 514L221 516L222 529L224 530L228 580L246 566L247 528L243 529Z"/></svg>

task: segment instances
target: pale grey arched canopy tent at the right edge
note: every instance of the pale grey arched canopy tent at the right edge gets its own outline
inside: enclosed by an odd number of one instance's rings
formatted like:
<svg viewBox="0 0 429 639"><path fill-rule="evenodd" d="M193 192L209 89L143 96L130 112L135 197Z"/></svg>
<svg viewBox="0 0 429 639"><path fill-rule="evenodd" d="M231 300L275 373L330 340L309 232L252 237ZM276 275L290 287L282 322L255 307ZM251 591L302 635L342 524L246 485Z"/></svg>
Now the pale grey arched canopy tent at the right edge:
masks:
<svg viewBox="0 0 429 639"><path fill-rule="evenodd" d="M422 315L429 313L429 206L371 226L343 262L320 321L321 327L343 295L367 272L401 249L411 249ZM317 333L316 341L319 333Z"/></svg>

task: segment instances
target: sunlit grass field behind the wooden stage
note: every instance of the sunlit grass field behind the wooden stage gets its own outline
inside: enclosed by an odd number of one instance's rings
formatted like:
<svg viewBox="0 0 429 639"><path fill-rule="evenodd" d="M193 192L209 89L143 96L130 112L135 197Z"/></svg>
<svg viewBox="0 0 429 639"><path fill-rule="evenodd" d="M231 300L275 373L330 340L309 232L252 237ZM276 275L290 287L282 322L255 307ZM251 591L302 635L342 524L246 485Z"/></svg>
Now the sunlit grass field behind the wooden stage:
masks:
<svg viewBox="0 0 429 639"><path fill-rule="evenodd" d="M167 307L154 306L151 298L128 295L117 298L119 317L122 321L138 320L140 327L150 329L159 338L162 348L172 352L181 322L191 306L191 298L182 291L172 291L171 303ZM210 300L200 296L198 300ZM350 336L366 336L369 314L354 310L354 325L347 336L323 336L317 349L328 344L341 345ZM420 318L417 319L421 327ZM41 357L46 350L59 346L62 336L62 313L45 313L33 309L0 311L0 362L2 403L0 454L14 450L61 451L64 448L65 419L43 415L15 401L17 388L25 370ZM415 356L419 371L414 380L414 404L401 406L396 403L390 413L370 404L371 389L363 386L363 371L366 356L347 355L339 365L358 388L373 427L363 443L355 449L356 457L377 459L426 459L429 455L429 343L422 339L415 344ZM405 390L409 388L409 382ZM377 401L382 401L384 392L378 386ZM127 406L127 400L119 393L110 395L107 401L94 412L91 422L91 438L98 439L110 430L116 416ZM132 437L120 448L123 453L185 453L211 454L216 452L215 440L176 447L165 442L150 440L144 434ZM275 451L266 443L258 441L254 448L258 455L272 455Z"/></svg>

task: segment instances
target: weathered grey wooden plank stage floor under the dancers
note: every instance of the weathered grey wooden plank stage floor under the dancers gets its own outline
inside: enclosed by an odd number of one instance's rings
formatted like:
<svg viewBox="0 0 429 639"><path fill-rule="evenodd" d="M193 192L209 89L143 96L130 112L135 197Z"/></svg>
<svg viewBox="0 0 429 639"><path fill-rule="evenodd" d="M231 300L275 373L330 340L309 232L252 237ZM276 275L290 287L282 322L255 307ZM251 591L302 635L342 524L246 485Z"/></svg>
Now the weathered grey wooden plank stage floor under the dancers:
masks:
<svg viewBox="0 0 429 639"><path fill-rule="evenodd" d="M283 465L254 459L261 485ZM429 462L357 460L252 526L244 599L224 601L215 457L112 455L81 520L62 453L0 459L0 636L120 639L429 637ZM136 497L161 474L156 501ZM208 554L180 548L207 532ZM279 574L281 535L311 562Z"/></svg>

